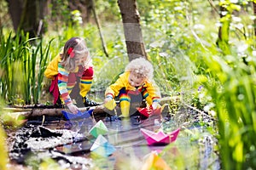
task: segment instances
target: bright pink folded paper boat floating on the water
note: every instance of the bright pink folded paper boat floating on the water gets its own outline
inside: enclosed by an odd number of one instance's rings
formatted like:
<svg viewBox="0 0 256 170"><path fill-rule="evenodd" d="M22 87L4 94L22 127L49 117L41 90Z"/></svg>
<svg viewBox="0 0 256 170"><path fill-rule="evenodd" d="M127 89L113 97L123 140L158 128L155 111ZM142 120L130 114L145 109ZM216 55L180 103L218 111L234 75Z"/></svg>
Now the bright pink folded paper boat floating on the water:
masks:
<svg viewBox="0 0 256 170"><path fill-rule="evenodd" d="M169 134L166 134L163 131L154 133L145 128L141 128L141 132L143 133L143 136L147 140L148 145L170 144L177 139L179 128L177 128L177 130L172 131L172 133Z"/></svg>

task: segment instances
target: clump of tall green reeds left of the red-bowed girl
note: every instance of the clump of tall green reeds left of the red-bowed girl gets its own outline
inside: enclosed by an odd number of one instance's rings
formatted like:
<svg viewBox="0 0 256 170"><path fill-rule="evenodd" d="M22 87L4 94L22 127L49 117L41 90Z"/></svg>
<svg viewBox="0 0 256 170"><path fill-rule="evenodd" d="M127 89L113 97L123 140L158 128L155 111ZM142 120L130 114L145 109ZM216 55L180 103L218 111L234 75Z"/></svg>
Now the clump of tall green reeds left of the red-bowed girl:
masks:
<svg viewBox="0 0 256 170"><path fill-rule="evenodd" d="M32 42L38 38L28 38L23 32L12 37L9 33L1 38L0 54L3 76L1 88L4 99L14 105L16 99L24 100L24 104L38 104L44 80L46 61L49 58L49 46L52 40L43 47L43 40L38 45ZM17 104L17 103L16 103ZM20 104L20 102L19 102Z"/></svg>

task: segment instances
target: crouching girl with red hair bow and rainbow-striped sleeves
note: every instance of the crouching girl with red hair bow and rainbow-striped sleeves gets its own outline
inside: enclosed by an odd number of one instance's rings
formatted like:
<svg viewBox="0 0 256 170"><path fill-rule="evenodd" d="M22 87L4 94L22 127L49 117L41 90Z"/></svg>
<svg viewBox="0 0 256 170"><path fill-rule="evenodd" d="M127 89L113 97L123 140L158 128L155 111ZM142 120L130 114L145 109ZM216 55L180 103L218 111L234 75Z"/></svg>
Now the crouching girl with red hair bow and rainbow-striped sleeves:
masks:
<svg viewBox="0 0 256 170"><path fill-rule="evenodd" d="M73 104L71 96L77 100L83 99L85 106L97 105L85 97L90 91L93 74L92 61L84 39L72 37L67 40L61 53L44 71L45 77L52 80L49 92L54 96L54 104L64 101L74 114L78 113L79 108Z"/></svg>

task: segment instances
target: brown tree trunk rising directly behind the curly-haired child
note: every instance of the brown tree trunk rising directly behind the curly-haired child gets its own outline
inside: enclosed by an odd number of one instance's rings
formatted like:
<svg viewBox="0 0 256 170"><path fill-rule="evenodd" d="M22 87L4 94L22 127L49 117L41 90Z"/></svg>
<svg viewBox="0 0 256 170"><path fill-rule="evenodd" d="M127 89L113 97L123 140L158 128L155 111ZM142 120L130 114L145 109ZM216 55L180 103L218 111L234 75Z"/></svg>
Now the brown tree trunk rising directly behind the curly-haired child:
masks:
<svg viewBox="0 0 256 170"><path fill-rule="evenodd" d="M118 4L123 20L129 60L139 57L147 59L136 0L118 0Z"/></svg>

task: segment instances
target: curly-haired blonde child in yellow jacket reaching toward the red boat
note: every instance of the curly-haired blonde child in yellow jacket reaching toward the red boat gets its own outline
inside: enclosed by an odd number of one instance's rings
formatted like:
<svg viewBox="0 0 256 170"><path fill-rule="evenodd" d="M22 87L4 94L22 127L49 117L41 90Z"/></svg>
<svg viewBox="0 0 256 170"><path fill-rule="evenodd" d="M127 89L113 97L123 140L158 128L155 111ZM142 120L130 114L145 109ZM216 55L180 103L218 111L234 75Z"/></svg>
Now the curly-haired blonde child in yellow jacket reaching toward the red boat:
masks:
<svg viewBox="0 0 256 170"><path fill-rule="evenodd" d="M104 103L118 96L123 116L132 115L135 110L130 111L131 103L143 102L143 99L156 109L160 106L160 90L154 83L153 72L153 65L147 59L131 60L119 79L106 89Z"/></svg>

